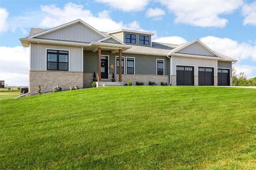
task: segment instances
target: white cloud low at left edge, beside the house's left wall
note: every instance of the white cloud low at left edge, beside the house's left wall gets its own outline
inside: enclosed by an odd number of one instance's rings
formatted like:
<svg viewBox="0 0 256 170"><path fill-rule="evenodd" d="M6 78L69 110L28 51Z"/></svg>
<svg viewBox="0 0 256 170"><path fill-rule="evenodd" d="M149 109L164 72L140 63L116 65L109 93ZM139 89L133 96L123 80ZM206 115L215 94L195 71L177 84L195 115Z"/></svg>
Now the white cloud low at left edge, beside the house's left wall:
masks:
<svg viewBox="0 0 256 170"><path fill-rule="evenodd" d="M0 47L0 79L9 86L28 86L29 48Z"/></svg>

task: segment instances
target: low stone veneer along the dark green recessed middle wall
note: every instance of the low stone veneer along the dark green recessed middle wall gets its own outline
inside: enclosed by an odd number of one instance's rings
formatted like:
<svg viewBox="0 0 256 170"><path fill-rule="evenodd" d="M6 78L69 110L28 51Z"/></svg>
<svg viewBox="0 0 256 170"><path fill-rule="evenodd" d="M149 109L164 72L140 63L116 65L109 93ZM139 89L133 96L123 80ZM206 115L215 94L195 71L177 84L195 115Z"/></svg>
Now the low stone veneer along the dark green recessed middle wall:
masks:
<svg viewBox="0 0 256 170"><path fill-rule="evenodd" d="M93 73L84 73L84 87L92 87L92 75ZM98 77L98 74L96 76ZM108 79L102 79L102 82L111 82L111 79L112 74L108 74ZM119 81L119 74L115 74L115 79L116 82ZM160 85L161 82L169 82L169 77L166 75L122 74L122 82L126 84L128 81L132 81L132 85L136 85L136 81L143 82L144 85L148 85L149 81Z"/></svg>

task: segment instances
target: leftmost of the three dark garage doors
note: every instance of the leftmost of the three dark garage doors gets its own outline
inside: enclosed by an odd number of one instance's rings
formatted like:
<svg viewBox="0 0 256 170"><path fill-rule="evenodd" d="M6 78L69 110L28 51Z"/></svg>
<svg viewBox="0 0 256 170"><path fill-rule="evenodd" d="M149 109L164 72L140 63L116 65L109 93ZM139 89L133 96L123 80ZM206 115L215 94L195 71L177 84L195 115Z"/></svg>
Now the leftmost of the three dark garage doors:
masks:
<svg viewBox="0 0 256 170"><path fill-rule="evenodd" d="M177 86L194 85L194 67L176 66L176 75Z"/></svg>

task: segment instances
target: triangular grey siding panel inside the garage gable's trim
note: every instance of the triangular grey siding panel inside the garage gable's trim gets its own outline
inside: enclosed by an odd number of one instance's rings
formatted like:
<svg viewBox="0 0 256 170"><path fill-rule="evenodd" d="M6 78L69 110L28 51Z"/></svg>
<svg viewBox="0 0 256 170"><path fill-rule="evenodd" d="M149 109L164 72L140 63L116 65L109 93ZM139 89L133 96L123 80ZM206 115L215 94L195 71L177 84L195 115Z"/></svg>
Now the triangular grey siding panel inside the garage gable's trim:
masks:
<svg viewBox="0 0 256 170"><path fill-rule="evenodd" d="M212 53L210 53L208 50L206 50L204 47L202 47L200 44L192 43L191 45L179 50L177 53L186 53L186 54L199 54L199 55L210 55L214 56Z"/></svg>

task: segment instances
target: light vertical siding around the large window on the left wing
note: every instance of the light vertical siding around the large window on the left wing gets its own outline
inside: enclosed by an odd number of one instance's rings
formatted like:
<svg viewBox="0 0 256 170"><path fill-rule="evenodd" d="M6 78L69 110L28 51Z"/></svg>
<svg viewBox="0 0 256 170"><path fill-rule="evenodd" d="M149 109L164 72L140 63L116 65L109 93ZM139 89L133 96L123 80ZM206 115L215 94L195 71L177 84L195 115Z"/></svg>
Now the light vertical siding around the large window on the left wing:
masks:
<svg viewBox="0 0 256 170"><path fill-rule="evenodd" d="M62 45L47 45L31 43L30 47L30 70L46 70L47 56L46 49L69 50L68 67L69 71L82 71L83 51L82 47L68 47Z"/></svg>

